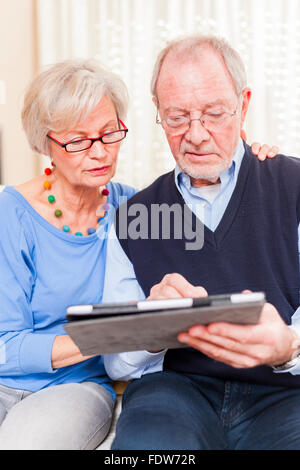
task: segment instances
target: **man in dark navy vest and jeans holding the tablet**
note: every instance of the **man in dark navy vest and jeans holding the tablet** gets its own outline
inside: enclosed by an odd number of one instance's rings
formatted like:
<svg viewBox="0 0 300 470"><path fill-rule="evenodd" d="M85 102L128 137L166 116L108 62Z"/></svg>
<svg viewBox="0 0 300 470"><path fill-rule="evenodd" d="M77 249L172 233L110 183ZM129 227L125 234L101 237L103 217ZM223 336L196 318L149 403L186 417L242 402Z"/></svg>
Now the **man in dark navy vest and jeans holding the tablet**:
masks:
<svg viewBox="0 0 300 470"><path fill-rule="evenodd" d="M195 325L179 335L188 347L108 355L113 378L136 379L114 449L300 449L300 160L261 163L242 143L246 85L238 54L214 37L175 41L158 58L153 100L177 165L128 213L191 204L203 246L121 237L117 224L103 300L249 289L268 303L257 325Z"/></svg>

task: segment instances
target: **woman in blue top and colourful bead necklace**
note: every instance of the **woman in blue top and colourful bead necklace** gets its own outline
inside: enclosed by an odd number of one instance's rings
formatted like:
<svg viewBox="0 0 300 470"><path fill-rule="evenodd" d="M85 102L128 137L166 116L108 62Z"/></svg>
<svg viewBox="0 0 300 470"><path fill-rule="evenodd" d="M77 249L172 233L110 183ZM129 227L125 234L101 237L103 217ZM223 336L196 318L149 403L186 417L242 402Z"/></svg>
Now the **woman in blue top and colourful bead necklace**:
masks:
<svg viewBox="0 0 300 470"><path fill-rule="evenodd" d="M0 449L94 449L109 430L102 360L63 324L69 305L101 302L101 231L135 192L111 182L126 103L123 82L91 61L52 66L26 94L24 129L51 165L0 195Z"/></svg>

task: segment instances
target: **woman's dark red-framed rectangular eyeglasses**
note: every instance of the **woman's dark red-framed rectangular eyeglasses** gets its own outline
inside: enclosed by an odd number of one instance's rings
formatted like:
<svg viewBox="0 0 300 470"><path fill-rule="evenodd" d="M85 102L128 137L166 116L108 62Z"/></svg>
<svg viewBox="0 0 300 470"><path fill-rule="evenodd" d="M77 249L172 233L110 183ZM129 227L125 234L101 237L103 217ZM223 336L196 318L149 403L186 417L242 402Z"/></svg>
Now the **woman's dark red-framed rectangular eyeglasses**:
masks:
<svg viewBox="0 0 300 470"><path fill-rule="evenodd" d="M74 140L73 142L67 142L66 144L63 144L62 142L58 142L58 140L54 139L50 135L47 135L47 137L53 142L55 142L57 145L65 149L65 151L68 153L82 152L83 150L88 150L89 148L91 148L94 142L97 142L98 140L100 140L100 142L102 142L103 144L115 144L125 139L128 129L121 120L120 123L122 124L124 129L118 129L113 132L107 132L106 134L102 134L95 139Z"/></svg>

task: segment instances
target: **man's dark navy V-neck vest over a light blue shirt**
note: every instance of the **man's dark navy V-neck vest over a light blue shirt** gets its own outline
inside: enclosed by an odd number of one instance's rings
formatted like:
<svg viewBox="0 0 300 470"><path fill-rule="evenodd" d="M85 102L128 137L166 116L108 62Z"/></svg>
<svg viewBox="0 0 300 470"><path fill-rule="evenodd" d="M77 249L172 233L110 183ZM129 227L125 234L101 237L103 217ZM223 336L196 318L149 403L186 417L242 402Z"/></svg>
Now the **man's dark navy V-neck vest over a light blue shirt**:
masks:
<svg viewBox="0 0 300 470"><path fill-rule="evenodd" d="M134 204L143 204L148 210L151 234L151 205L163 203L180 205L183 213L184 200L175 185L174 172L161 176L131 198L128 214ZM135 216L128 214L130 227ZM162 234L156 234L158 239L147 239L143 227L144 238L124 238L124 227L122 238L118 213L116 232L146 296L165 274L176 272L192 284L205 287L209 294L264 291L267 301L290 324L299 306L299 220L300 159L277 156L259 162L245 145L234 193L215 232L204 227L202 249L186 250L190 240L185 239L184 230L183 237L176 239L174 227L169 240L162 239ZM194 215L191 221L195 230ZM276 374L267 366L235 369L191 348L169 350L164 368L226 380L300 387L300 375Z"/></svg>

